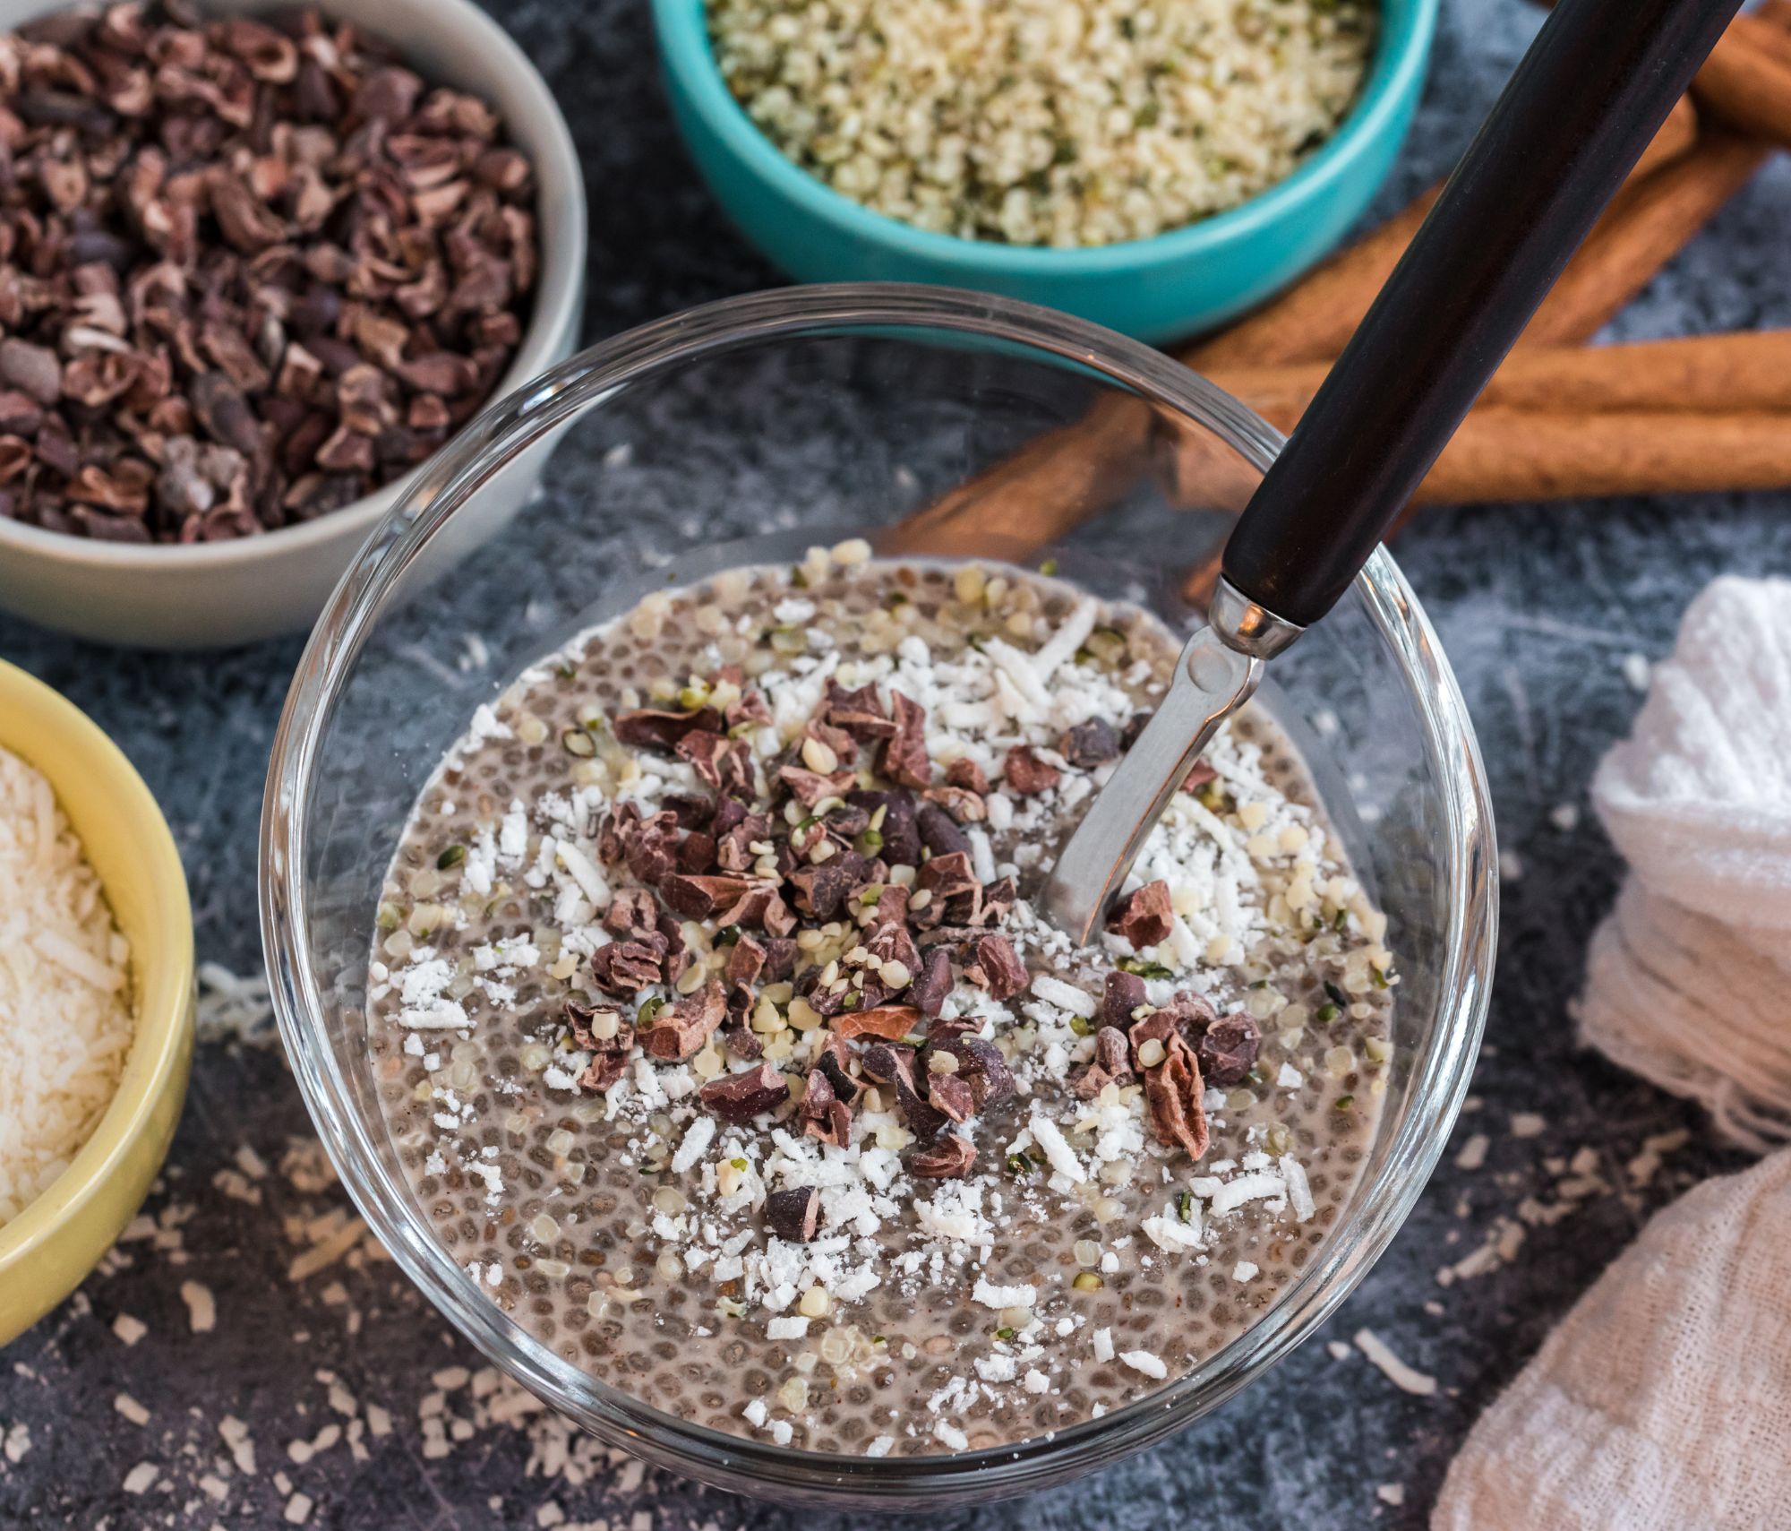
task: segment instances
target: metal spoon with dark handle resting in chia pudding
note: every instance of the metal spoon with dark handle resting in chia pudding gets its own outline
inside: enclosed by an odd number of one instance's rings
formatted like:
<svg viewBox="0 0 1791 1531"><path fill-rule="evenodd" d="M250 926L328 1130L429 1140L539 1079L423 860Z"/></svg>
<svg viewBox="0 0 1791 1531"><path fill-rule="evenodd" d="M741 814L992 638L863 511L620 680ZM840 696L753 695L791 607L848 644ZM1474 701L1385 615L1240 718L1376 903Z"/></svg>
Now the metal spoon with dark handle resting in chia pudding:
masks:
<svg viewBox="0 0 1791 1531"><path fill-rule="evenodd" d="M1741 0L1564 0L1225 545L1207 626L1044 889L1087 943L1263 667L1320 620L1454 436Z"/></svg>

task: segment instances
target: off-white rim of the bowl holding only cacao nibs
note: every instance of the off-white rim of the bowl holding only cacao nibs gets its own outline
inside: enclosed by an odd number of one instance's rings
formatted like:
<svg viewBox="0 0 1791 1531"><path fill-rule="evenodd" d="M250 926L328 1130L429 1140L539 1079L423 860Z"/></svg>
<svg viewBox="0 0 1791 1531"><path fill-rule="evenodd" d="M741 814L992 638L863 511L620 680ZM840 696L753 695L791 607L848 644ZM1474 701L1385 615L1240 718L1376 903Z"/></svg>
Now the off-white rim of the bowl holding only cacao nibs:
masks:
<svg viewBox="0 0 1791 1531"><path fill-rule="evenodd" d="M344 13L347 20L355 20L351 0L313 0L313 4L324 13ZM521 90L539 97L546 106L546 154L536 156L536 221L541 269L536 280L534 305L516 355L503 376L493 385L484 409L543 368L552 366L557 339L577 323L584 301L584 265L591 247L591 224L586 210L584 170L571 138L571 125L566 122L559 99L541 77L541 70L475 0L430 0L430 5L441 25L466 30L467 57L480 61L480 70L487 79L510 75ZM45 9L54 11L56 0L48 0ZM245 9L254 9L254 5ZM269 9L269 5L261 5L261 9ZM401 47L403 39L398 43ZM476 86L460 88L476 90ZM466 425L460 430L466 430ZM451 445L458 434L450 436L442 446ZM346 538L358 543L374 522L405 497L416 471L412 468L373 493L349 500L338 511L330 511L313 522L276 527L258 536L202 543L100 541L0 516L0 550L16 550L21 558L84 568L224 570L256 563L270 550L297 554Z"/></svg>

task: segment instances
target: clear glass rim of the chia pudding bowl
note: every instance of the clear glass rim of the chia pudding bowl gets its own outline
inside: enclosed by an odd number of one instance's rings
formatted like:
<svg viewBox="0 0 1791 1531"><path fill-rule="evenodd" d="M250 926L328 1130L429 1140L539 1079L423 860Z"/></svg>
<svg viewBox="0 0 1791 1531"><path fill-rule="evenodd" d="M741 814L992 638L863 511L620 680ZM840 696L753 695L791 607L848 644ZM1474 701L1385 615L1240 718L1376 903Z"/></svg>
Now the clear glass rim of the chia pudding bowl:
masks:
<svg viewBox="0 0 1791 1531"><path fill-rule="evenodd" d="M1080 1475L1155 1443L1216 1407L1286 1355L1354 1291L1397 1233L1440 1158L1467 1094L1487 1015L1497 936L1492 803L1472 721L1436 635L1384 549L1354 590L1410 678L1426 758L1438 778L1449 834L1438 852L1449 930L1438 973L1433 1040L1413 1104L1361 1194L1356 1221L1320 1250L1255 1325L1187 1377L1050 1436L1010 1447L922 1457L792 1452L727 1436L596 1382L527 1336L423 1226L407 1187L385 1172L383 1122L355 1108L355 1090L328 1043L330 1004L303 952L308 945L303 844L319 740L338 683L378 618L378 602L455 509L501 459L548 437L593 400L706 353L817 330L890 333L924 328L1007 341L1103 376L1193 418L1266 468L1281 436L1205 378L1143 342L1057 310L1008 298L910 283L781 289L724 299L587 348L528 389L487 409L453 452L428 464L414 516L394 515L356 556L294 672L269 762L261 810L260 913L274 1013L306 1110L349 1196L398 1266L473 1345L543 1402L598 1438L648 1461L740 1492L801 1502L919 1508L1023 1493Z"/></svg>

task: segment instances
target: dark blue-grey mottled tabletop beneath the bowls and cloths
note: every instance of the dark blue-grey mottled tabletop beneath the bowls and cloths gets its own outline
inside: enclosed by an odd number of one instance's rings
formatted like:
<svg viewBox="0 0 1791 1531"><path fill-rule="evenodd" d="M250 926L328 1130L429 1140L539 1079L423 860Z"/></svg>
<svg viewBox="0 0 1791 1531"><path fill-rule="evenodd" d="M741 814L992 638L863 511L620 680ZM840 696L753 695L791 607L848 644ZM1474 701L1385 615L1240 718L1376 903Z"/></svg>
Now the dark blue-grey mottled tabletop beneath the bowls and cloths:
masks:
<svg viewBox="0 0 1791 1531"><path fill-rule="evenodd" d="M534 56L573 124L593 217L587 337L772 285L722 222L673 136L654 77L641 0L516 0L493 9ZM1447 0L1431 88L1393 208L1447 167L1535 29L1519 0ZM1623 335L1791 323L1791 167L1775 163L1623 316ZM1236 1527L1418 1526L1472 1420L1592 1282L1648 1210L1689 1180L1732 1167L1700 1115L1580 1052L1569 1000L1587 938L1610 904L1617 866L1585 783L1639 705L1632 656L1658 658L1685 602L1727 570L1791 568L1787 495L1628 500L1426 513L1397 556L1436 620L1472 708L1494 783L1501 843L1521 871L1504 887L1499 977L1487 1056L1451 1156L1388 1255L1327 1332L1216 1416L1157 1450L1062 1492L962 1515L937 1527L1146 1527L1195 1520ZM261 776L297 640L211 656L116 654L0 618L0 654L86 708L138 764L179 839L202 959L260 968L254 837ZM1630 662L1626 665L1626 662ZM1576 812L1581 810L1581 812ZM1546 1119L1508 1131L1515 1111ZM1590 1147L1626 1185L1642 1138L1689 1128L1691 1142L1646 1189L1592 1194L1538 1223L1517 1259L1476 1280L1436 1284L1521 1203L1560 1203L1562 1160ZM1470 1133L1492 1138L1483 1169L1454 1167ZM238 1146L276 1163L308 1138L276 1052L210 1045L168 1174L147 1212L159 1239L122 1246L118 1264L7 1350L0 1366L0 1526L279 1526L292 1492L328 1527L750 1526L833 1527L804 1515L641 1477L575 1449L536 1420L491 1418L491 1400L448 1373L446 1414L466 1438L424 1450L430 1373L473 1366L469 1346L390 1266L353 1257L290 1284L299 1223L344 1203L333 1187L276 1167L258 1205L217 1183ZM219 1305L192 1334L183 1282ZM127 1312L149 1336L125 1346ZM1327 1341L1372 1327L1440 1391L1408 1397L1359 1354ZM337 1379L335 1406L328 1379ZM353 1395L353 1407L340 1389ZM115 1409L129 1393L147 1425ZM387 1436L330 1445L308 1463L287 1443L330 1422L390 1411ZM217 1425L242 1418L258 1470L222 1481ZM23 1425L23 1429L20 1429ZM365 1431L365 1423L360 1425ZM29 1434L29 1447L25 1438ZM16 1457L16 1461L13 1459ZM133 1479L147 1488L124 1488ZM276 1472L290 1483L276 1479ZM201 1479L215 1474L219 1501ZM1399 1484L1401 1493L1377 1495ZM1402 1506L1388 1502L1401 1499Z"/></svg>

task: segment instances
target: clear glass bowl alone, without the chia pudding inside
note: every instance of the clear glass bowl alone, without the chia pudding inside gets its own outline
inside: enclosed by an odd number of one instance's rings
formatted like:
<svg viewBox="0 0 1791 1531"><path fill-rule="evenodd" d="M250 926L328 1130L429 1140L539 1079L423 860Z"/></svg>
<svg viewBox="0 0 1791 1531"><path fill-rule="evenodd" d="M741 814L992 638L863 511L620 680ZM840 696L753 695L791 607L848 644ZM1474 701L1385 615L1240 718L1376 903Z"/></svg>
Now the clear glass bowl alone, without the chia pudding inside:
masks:
<svg viewBox="0 0 1791 1531"><path fill-rule="evenodd" d="M1497 920L1474 733L1384 550L1275 660L1259 697L1306 751L1390 918L1404 977L1379 1133L1281 1302L1137 1404L1015 1447L881 1459L779 1449L639 1404L525 1334L437 1242L365 1047L369 941L399 830L473 708L528 662L647 588L849 534L922 556L1055 558L1062 575L1186 631L1277 446L1200 376L1084 321L863 285L738 298L607 341L489 409L426 468L337 588L294 678L261 819L261 921L281 1034L344 1185L491 1361L604 1441L729 1490L940 1506L1162 1440L1286 1355L1363 1278L1467 1088Z"/></svg>

